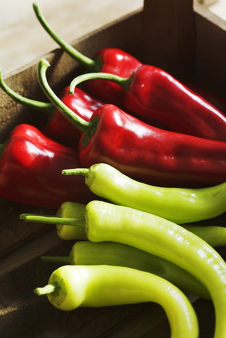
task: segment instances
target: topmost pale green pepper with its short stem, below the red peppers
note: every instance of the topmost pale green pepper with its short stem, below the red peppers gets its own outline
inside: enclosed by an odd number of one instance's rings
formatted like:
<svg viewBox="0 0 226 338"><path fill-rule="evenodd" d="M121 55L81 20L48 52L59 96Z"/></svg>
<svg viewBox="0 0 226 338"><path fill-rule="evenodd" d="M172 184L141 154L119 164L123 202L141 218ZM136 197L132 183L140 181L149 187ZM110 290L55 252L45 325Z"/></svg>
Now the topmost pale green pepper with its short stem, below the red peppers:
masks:
<svg viewBox="0 0 226 338"><path fill-rule="evenodd" d="M213 218L226 212L226 183L201 189L160 188L137 182L103 163L90 169L63 170L62 174L84 175L86 185L96 195L177 224Z"/></svg>

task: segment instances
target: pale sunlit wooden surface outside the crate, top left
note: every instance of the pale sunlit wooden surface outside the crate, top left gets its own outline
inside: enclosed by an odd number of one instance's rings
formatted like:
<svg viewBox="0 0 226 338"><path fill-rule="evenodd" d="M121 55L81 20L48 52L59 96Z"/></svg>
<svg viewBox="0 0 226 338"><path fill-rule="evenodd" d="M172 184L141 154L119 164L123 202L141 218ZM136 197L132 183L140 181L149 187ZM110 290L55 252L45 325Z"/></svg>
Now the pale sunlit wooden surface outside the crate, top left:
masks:
<svg viewBox="0 0 226 338"><path fill-rule="evenodd" d="M58 45L36 19L33 0L0 0L0 66L13 71ZM143 6L143 0L38 0L53 29L70 42Z"/></svg>

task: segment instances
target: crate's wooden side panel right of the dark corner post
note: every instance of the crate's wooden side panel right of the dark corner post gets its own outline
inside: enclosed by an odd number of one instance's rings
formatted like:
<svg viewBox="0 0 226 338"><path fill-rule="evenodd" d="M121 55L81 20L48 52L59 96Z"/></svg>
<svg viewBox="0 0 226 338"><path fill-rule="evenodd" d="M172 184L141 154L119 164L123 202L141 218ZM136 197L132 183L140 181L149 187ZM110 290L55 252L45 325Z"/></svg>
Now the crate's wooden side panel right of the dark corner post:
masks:
<svg viewBox="0 0 226 338"><path fill-rule="evenodd" d="M225 94L226 22L196 4L196 84L219 96Z"/></svg>

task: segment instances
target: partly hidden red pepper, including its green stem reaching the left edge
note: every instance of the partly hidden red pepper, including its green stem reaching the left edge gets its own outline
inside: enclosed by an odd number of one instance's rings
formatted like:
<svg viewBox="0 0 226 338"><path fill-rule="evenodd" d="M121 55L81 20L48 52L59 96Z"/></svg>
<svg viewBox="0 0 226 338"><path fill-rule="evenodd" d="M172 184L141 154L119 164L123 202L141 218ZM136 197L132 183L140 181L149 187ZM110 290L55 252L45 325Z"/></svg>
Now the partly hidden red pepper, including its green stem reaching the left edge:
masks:
<svg viewBox="0 0 226 338"><path fill-rule="evenodd" d="M77 144L81 136L80 130L76 129L70 122L68 122L68 120L55 108L52 103L28 99L15 93L2 79L1 69L0 87L16 102L49 116L48 122L44 128L44 133L47 136L65 146L77 148ZM79 88L76 88L74 95L71 96L68 94L68 87L66 87L61 93L61 100L68 108L86 121L89 121L93 112L104 104Z"/></svg>

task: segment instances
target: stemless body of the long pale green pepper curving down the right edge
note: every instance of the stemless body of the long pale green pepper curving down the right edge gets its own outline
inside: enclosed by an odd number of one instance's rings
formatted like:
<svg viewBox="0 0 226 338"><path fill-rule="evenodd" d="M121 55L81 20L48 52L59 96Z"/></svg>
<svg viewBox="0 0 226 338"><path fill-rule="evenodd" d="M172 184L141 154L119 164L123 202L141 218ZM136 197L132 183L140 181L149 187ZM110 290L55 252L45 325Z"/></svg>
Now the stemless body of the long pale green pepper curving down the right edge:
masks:
<svg viewBox="0 0 226 338"><path fill-rule="evenodd" d="M226 337L226 263L210 245L161 217L105 202L89 202L85 220L88 240L134 246L164 258L196 277L213 300L214 337Z"/></svg>

